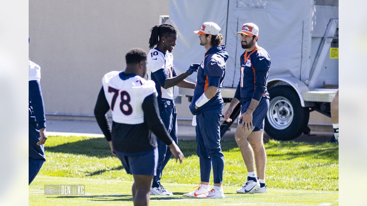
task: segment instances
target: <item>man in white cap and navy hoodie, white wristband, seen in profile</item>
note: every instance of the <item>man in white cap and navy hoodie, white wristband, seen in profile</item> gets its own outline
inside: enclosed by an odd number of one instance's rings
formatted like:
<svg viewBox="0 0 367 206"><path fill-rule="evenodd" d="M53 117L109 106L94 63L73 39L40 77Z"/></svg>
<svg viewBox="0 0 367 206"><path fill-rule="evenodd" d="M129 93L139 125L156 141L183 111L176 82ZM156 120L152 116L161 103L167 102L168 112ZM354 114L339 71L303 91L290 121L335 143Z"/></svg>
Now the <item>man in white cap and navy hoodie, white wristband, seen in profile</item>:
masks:
<svg viewBox="0 0 367 206"><path fill-rule="evenodd" d="M223 111L221 87L226 72L228 53L221 28L214 22L204 22L199 31L200 45L206 53L197 70L197 81L190 111L197 122L196 154L200 158L201 182L197 190L183 194L189 197L224 198L222 188L224 155L222 153L219 120ZM213 168L214 186L210 190L210 171Z"/></svg>

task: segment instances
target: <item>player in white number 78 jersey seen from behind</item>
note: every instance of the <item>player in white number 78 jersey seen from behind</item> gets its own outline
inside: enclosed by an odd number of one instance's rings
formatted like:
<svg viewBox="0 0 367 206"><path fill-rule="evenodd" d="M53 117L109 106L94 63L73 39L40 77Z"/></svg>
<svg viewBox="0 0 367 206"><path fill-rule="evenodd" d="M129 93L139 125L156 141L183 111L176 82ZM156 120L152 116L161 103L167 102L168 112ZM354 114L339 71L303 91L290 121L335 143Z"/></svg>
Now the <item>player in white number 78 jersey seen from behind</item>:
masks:
<svg viewBox="0 0 367 206"><path fill-rule="evenodd" d="M118 157L134 177L134 205L148 205L153 176L156 175L158 149L156 137L168 145L182 163L183 154L168 135L159 117L155 83L145 80L146 52L131 49L126 54L126 70L111 71L102 78L94 114L112 155ZM112 111L112 131L106 113ZM153 133L155 135L153 135Z"/></svg>

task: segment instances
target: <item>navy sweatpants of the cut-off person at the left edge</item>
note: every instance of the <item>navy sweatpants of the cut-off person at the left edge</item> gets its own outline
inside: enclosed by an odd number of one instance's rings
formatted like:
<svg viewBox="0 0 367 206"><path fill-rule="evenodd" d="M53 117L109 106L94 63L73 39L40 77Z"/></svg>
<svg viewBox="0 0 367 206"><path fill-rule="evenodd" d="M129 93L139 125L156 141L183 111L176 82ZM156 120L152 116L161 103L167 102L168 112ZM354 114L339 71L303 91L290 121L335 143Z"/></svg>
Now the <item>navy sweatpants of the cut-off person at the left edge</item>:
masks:
<svg viewBox="0 0 367 206"><path fill-rule="evenodd" d="M40 171L43 163L46 161L43 144L38 146L40 141L40 130L37 129L36 123L29 123L29 157L28 157L28 184L30 184L37 173Z"/></svg>

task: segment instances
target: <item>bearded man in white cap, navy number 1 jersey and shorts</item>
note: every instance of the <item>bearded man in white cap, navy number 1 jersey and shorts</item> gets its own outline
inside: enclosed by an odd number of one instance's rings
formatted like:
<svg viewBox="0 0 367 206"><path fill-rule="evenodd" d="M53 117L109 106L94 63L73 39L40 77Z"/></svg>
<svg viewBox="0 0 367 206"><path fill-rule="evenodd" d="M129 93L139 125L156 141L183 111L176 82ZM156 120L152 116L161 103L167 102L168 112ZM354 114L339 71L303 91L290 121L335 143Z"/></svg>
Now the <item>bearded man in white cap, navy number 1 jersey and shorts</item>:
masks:
<svg viewBox="0 0 367 206"><path fill-rule="evenodd" d="M264 119L269 108L269 93L266 85L269 77L270 56L258 46L259 28L254 23L245 23L241 34L241 46L246 51L240 57L241 77L236 93L224 114L227 122L238 103L241 115L235 139L241 150L248 176L247 182L237 190L238 193L266 193L265 166L266 153L263 144ZM254 161L255 157L255 161ZM256 162L256 176L254 162Z"/></svg>

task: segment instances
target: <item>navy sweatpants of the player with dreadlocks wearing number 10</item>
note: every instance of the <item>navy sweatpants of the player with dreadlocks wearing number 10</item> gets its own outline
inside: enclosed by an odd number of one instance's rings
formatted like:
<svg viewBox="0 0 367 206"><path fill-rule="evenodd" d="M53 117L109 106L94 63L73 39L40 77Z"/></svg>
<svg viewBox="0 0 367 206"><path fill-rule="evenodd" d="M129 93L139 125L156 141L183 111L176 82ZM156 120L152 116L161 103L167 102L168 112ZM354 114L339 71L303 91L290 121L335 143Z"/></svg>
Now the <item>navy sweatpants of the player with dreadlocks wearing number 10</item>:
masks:
<svg viewBox="0 0 367 206"><path fill-rule="evenodd" d="M173 100L167 100L164 104L159 104L159 113L160 117L163 121L164 126L166 127L168 134L172 137L172 139L177 144L177 112L176 107L174 105ZM168 161L172 156L172 152L167 144L164 144L159 138L157 138L158 144L158 166L157 166L157 175L153 177L153 187L159 187L160 179L162 177L162 172L164 167L167 165Z"/></svg>

